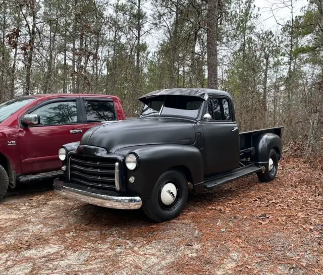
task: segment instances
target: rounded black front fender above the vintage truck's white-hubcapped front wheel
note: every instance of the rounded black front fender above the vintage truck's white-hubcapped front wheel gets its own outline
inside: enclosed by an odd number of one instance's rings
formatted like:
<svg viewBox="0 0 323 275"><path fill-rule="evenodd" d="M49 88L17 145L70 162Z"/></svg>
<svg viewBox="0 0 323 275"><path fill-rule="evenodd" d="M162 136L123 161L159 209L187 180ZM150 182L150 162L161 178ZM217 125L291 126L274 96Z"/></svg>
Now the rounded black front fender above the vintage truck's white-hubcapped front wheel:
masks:
<svg viewBox="0 0 323 275"><path fill-rule="evenodd" d="M126 182L129 195L139 195L145 199L152 191L161 174L176 168L181 170L190 181L196 192L203 190L203 159L200 151L188 145L148 145L121 149L118 154L126 156L135 153L139 166L134 171L127 170ZM129 177L135 177L129 183Z"/></svg>

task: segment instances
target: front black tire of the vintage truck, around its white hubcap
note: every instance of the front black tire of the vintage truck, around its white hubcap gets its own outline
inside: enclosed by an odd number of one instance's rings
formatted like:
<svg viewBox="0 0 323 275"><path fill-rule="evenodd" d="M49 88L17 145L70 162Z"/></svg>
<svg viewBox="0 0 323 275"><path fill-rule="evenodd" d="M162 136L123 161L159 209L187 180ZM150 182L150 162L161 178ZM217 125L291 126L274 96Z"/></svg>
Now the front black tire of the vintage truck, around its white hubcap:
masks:
<svg viewBox="0 0 323 275"><path fill-rule="evenodd" d="M177 189L176 199L171 205L163 204L160 199L161 189L167 183L173 183ZM153 221L166 222L182 212L187 197L188 184L185 176L176 170L170 170L159 177L149 197L143 200L142 209Z"/></svg>

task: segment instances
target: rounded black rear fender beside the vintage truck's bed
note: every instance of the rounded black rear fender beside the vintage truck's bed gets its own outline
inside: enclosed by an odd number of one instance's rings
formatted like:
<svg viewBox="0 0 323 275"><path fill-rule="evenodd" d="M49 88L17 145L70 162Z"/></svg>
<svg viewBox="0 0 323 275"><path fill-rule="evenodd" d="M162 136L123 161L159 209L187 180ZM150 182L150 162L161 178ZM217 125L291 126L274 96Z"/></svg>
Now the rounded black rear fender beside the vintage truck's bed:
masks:
<svg viewBox="0 0 323 275"><path fill-rule="evenodd" d="M258 166L268 163L269 153L272 149L277 151L280 159L282 153L281 138L272 133L260 134L252 138L252 143L255 148L255 154L251 156L251 161Z"/></svg>

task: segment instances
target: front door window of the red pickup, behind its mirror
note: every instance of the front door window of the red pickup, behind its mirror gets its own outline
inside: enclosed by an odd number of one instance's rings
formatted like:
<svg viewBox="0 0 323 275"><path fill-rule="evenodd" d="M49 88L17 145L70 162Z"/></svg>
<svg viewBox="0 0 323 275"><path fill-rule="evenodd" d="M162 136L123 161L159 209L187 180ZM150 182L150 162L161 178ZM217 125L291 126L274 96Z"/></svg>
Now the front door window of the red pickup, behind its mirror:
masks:
<svg viewBox="0 0 323 275"><path fill-rule="evenodd" d="M40 117L40 125L76 123L76 101L49 103L47 105L39 107L31 114L36 114Z"/></svg>

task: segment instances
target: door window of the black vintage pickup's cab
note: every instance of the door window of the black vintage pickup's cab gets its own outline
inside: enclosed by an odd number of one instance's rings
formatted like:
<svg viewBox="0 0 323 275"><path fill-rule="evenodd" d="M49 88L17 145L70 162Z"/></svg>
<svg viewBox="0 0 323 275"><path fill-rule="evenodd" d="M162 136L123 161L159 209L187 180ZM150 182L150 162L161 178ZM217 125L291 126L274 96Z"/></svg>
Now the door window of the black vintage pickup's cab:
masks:
<svg viewBox="0 0 323 275"><path fill-rule="evenodd" d="M211 115L213 121L231 120L229 102L225 98L210 98L206 112Z"/></svg>

